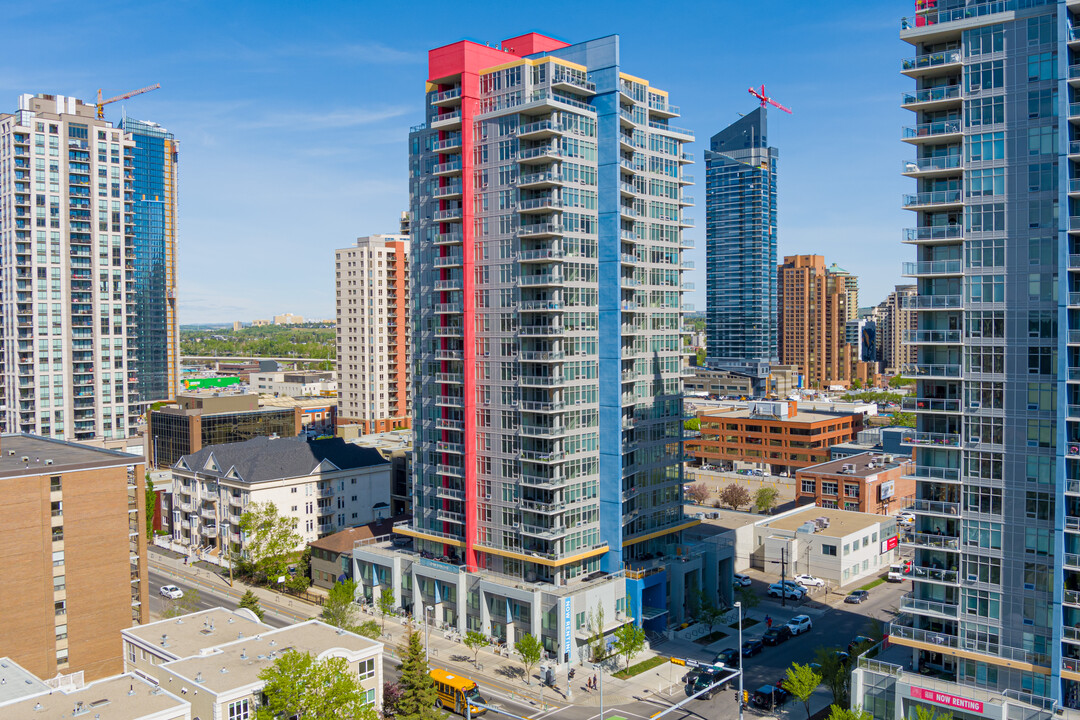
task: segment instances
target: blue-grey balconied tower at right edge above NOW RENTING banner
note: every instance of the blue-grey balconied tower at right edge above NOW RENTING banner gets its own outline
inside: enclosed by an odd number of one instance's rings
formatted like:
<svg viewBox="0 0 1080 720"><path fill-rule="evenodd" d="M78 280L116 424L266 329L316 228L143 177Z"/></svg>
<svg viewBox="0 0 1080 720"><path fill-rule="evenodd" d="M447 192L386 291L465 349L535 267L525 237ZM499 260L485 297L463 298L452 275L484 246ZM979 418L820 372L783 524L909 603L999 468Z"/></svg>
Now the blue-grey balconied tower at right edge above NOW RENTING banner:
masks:
<svg viewBox="0 0 1080 720"><path fill-rule="evenodd" d="M912 703L1009 718L1080 704L1075 27L1074 0L919 2L903 21L915 573L889 629L901 674L861 674L863 707L887 710L893 683L907 716Z"/></svg>

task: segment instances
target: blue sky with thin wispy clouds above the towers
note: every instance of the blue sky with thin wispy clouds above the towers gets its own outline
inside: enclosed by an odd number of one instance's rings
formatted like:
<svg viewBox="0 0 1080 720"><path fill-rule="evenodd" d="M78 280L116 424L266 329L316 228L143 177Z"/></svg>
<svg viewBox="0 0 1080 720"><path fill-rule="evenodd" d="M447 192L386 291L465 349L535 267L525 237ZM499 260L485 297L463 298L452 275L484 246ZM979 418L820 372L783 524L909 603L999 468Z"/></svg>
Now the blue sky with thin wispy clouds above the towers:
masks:
<svg viewBox="0 0 1080 720"><path fill-rule="evenodd" d="M914 257L900 209L914 157L899 39L914 1L49 2L4 11L0 110L19 93L91 100L160 82L106 117L180 140L180 321L334 316L334 248L394 232L408 204L408 127L423 120L427 51L528 31L622 36L626 72L671 92L674 124L707 138L765 83L780 148L780 254L821 254L860 276L863 305ZM689 190L704 309L704 188Z"/></svg>

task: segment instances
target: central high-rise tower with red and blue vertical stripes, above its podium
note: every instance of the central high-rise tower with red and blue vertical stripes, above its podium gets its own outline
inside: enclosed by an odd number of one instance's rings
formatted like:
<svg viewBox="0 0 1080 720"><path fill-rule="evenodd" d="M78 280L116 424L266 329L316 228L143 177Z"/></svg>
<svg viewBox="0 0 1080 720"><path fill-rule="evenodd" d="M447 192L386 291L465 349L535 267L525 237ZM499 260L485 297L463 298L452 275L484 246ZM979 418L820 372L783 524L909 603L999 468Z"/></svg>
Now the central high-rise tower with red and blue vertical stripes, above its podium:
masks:
<svg viewBox="0 0 1080 720"><path fill-rule="evenodd" d="M696 522L680 504L692 133L622 70L617 36L433 50L427 106L409 137L408 533L552 587L665 554Z"/></svg>

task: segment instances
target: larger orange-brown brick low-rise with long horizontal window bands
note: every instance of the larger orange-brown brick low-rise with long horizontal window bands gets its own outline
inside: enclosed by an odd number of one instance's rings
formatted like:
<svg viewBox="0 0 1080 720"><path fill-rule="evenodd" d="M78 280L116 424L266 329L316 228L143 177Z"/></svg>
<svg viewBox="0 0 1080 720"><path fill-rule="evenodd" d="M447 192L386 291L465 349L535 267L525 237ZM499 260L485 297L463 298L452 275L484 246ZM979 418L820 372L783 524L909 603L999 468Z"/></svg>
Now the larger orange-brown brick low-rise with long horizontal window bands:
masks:
<svg viewBox="0 0 1080 720"><path fill-rule="evenodd" d="M829 459L829 448L855 439L859 412L799 410L795 400L754 400L746 408L698 413L701 436L686 441L697 460L729 465L755 463L773 473L794 473Z"/></svg>

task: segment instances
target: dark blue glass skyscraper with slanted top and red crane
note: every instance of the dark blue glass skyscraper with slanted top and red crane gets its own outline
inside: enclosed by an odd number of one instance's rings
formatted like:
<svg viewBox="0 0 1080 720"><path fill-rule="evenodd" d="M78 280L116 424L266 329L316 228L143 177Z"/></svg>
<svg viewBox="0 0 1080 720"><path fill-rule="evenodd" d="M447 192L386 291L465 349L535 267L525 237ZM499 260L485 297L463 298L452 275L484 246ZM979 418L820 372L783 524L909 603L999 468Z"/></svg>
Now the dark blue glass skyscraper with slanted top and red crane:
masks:
<svg viewBox="0 0 1080 720"><path fill-rule="evenodd" d="M764 108L714 135L705 151L708 363L762 383L778 362L778 158Z"/></svg>

